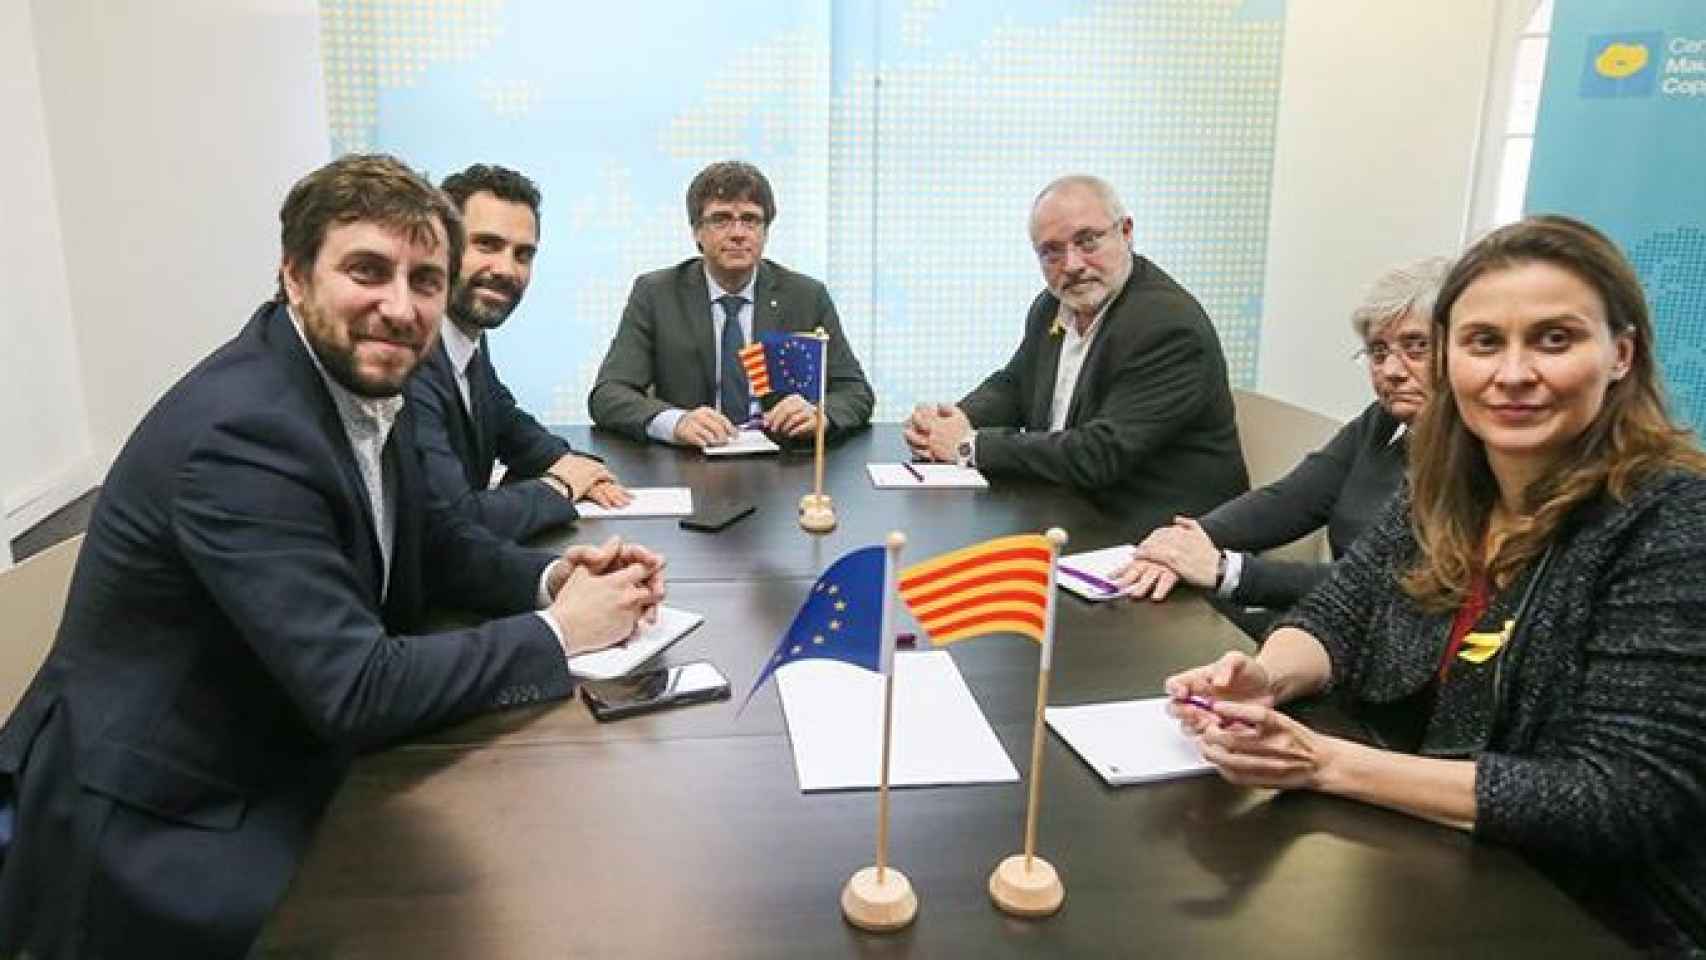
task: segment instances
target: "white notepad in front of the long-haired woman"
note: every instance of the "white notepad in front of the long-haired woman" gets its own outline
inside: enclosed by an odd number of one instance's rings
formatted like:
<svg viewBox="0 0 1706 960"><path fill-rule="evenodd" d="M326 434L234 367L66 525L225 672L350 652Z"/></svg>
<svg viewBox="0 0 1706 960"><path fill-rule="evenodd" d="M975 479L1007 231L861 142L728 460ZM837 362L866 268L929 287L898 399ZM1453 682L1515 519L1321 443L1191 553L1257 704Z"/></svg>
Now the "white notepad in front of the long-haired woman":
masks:
<svg viewBox="0 0 1706 960"><path fill-rule="evenodd" d="M1049 706L1042 720L1112 786L1215 771L1167 716L1167 697Z"/></svg>

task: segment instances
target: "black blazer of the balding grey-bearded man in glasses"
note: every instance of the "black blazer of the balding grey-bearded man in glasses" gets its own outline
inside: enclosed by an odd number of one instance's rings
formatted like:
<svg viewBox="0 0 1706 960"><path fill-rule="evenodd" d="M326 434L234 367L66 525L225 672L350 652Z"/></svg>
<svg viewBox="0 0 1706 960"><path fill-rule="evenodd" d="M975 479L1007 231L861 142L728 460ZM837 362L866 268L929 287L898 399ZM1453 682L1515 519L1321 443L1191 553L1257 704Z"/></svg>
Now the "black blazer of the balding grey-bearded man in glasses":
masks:
<svg viewBox="0 0 1706 960"><path fill-rule="evenodd" d="M1194 297L1133 256L1078 373L1066 428L1053 433L1058 312L1053 293L1037 295L1013 358L960 401L978 428L978 469L1076 488L1136 539L1249 489L1227 361Z"/></svg>

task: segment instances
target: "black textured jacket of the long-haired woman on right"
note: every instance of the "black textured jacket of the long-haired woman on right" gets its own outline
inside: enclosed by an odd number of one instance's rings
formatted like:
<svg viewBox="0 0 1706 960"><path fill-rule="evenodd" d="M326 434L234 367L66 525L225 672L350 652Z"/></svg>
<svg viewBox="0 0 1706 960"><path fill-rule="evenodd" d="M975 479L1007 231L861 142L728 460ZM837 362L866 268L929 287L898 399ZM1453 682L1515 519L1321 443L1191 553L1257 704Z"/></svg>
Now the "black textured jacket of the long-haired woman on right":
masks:
<svg viewBox="0 0 1706 960"><path fill-rule="evenodd" d="M1322 641L1332 687L1421 691L1452 614L1397 585L1407 488L1280 626ZM1600 498L1559 534L1476 757L1476 836L1522 849L1633 943L1706 955L1706 477Z"/></svg>

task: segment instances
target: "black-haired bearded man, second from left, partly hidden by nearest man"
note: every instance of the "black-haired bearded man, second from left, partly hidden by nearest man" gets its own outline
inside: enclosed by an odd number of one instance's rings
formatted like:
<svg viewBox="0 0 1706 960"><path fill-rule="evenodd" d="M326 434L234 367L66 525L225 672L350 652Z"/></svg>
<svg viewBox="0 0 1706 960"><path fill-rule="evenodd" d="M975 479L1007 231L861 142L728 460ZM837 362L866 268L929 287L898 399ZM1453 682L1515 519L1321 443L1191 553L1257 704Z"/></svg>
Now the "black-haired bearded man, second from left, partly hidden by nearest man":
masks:
<svg viewBox="0 0 1706 960"><path fill-rule="evenodd" d="M421 462L433 493L493 534L519 541L573 522L575 501L633 498L594 457L539 426L491 365L485 331L522 302L539 251L539 188L505 167L474 164L444 181L462 211L467 251L438 346L409 379ZM491 467L503 460L503 484Z"/></svg>

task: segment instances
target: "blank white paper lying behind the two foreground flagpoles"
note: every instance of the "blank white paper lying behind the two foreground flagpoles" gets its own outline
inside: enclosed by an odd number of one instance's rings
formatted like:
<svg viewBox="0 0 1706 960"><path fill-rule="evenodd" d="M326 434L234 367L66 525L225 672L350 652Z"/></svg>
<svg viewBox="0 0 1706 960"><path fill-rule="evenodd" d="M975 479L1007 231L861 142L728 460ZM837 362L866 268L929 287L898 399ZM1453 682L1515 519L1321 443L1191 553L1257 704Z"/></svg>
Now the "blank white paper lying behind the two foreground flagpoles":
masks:
<svg viewBox="0 0 1706 960"><path fill-rule="evenodd" d="M873 789L882 762L882 677L839 660L776 670L800 791ZM891 786L1012 783L1018 769L943 650L896 653Z"/></svg>

